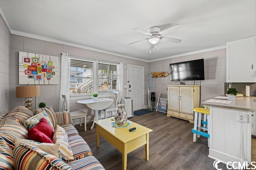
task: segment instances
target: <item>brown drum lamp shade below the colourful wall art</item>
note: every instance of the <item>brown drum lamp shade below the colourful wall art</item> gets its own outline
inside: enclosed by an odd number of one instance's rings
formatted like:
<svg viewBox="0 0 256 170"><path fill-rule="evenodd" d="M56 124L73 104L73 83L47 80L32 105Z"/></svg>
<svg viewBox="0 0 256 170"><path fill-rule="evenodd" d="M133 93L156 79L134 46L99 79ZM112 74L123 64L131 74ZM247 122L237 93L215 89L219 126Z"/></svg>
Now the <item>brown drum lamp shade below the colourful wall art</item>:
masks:
<svg viewBox="0 0 256 170"><path fill-rule="evenodd" d="M40 86L16 86L16 98L40 96Z"/></svg>

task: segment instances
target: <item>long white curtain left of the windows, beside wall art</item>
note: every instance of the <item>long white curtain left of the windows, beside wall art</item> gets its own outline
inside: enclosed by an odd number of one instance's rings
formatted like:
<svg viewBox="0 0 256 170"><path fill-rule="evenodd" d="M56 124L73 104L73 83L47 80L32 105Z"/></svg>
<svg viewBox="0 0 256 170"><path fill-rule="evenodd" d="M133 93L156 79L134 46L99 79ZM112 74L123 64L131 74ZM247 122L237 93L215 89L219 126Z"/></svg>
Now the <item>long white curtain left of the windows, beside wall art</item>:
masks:
<svg viewBox="0 0 256 170"><path fill-rule="evenodd" d="M60 107L59 110L63 110L63 99L62 94L66 95L67 98L67 109L69 111L69 77L70 77L70 59L68 57L68 53L62 52L61 55L61 78L60 78Z"/></svg>

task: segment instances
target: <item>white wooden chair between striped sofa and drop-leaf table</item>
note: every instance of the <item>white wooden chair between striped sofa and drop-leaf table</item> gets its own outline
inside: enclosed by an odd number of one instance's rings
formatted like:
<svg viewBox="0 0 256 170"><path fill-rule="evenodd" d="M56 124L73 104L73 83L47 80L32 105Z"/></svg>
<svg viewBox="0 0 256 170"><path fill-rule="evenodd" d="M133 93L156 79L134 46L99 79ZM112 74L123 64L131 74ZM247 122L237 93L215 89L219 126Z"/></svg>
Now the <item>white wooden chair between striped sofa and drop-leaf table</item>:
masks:
<svg viewBox="0 0 256 170"><path fill-rule="evenodd" d="M62 98L63 98L63 105L62 108L65 111L69 111L69 106L67 105L67 98L66 95L62 94ZM86 115L87 113L85 113L82 110L78 110L78 111L69 111L71 119L80 119L80 126L82 126L82 118L84 118L84 131L86 131Z"/></svg>

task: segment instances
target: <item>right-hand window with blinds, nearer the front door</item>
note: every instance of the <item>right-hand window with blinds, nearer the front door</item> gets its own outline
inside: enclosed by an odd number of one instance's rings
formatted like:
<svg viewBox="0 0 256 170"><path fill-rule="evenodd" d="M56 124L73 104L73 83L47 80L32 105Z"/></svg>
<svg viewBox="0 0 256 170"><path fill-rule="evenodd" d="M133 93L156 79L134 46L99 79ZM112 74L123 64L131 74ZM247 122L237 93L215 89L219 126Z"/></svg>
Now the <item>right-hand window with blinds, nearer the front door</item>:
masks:
<svg viewBox="0 0 256 170"><path fill-rule="evenodd" d="M117 64L99 63L99 91L116 90L118 78Z"/></svg>

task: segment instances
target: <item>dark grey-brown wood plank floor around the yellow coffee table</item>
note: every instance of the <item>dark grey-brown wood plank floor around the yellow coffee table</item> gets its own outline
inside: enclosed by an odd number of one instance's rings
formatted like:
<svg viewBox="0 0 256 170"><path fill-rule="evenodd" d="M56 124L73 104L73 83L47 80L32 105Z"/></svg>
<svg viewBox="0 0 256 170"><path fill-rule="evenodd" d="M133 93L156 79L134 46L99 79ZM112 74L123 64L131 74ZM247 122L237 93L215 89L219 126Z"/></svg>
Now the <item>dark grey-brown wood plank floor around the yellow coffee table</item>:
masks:
<svg viewBox="0 0 256 170"><path fill-rule="evenodd" d="M128 170L215 170L214 160L208 157L207 138L193 142L191 129L194 124L158 112L129 120L153 131L149 133L149 160L145 160L144 147L140 147L128 154ZM106 170L122 170L121 152L103 137L100 137L100 147L97 148L96 127L90 130L91 125L87 125L87 131L83 130L83 125L75 127ZM218 168L227 169L222 163Z"/></svg>

